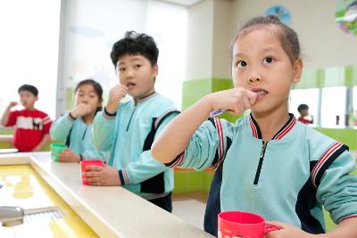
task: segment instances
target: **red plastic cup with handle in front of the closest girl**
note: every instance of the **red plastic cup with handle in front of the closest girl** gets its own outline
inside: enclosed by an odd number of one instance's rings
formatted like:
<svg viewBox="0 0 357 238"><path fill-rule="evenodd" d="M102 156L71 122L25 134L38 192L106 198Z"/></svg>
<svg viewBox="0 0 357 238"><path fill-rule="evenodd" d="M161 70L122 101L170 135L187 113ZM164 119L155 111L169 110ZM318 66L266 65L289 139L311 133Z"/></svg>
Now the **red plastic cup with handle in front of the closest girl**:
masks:
<svg viewBox="0 0 357 238"><path fill-rule="evenodd" d="M257 214L230 210L218 215L218 237L220 238L263 238L265 234L278 230L267 225Z"/></svg>

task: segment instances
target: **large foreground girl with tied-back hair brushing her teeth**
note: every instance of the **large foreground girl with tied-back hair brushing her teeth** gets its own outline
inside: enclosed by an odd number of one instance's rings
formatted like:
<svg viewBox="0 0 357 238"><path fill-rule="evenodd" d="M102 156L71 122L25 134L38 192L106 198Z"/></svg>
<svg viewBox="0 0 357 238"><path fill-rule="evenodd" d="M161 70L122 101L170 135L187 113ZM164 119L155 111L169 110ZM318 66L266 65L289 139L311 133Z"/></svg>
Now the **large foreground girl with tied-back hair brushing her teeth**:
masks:
<svg viewBox="0 0 357 238"><path fill-rule="evenodd" d="M288 113L290 88L303 70L295 31L277 16L256 17L232 46L235 88L208 94L173 119L153 157L170 167L216 168L204 217L211 234L220 211L244 210L280 221L269 222L279 230L267 238L357 237L353 156ZM211 111L248 109L236 123L206 120ZM322 206L338 224L328 234Z"/></svg>

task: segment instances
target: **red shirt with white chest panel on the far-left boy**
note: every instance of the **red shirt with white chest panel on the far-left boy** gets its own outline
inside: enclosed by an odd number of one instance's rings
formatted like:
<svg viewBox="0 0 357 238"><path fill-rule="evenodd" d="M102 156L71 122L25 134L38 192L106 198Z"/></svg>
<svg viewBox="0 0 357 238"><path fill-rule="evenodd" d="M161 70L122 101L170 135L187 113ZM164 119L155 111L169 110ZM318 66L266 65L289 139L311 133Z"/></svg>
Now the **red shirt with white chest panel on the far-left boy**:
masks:
<svg viewBox="0 0 357 238"><path fill-rule="evenodd" d="M5 126L15 127L12 144L20 152L31 152L44 135L49 134L52 121L43 111L11 111Z"/></svg>

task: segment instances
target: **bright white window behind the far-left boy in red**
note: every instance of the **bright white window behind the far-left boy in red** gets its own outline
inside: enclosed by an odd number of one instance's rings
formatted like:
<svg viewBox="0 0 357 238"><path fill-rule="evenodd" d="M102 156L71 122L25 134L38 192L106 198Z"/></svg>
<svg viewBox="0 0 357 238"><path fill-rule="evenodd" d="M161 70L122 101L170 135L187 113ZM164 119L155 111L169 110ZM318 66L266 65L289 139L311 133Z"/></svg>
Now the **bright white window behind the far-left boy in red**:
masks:
<svg viewBox="0 0 357 238"><path fill-rule="evenodd" d="M60 0L0 2L0 114L19 102L19 86L31 84L39 91L36 108L54 119L60 8Z"/></svg>

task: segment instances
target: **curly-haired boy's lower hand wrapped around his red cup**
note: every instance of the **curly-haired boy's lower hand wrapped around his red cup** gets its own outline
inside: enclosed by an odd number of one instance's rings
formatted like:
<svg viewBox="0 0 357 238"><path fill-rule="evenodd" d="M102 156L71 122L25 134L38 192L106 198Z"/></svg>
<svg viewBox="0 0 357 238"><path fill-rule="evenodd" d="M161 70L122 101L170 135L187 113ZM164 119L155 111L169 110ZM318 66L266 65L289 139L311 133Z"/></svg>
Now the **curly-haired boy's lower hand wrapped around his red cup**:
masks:
<svg viewBox="0 0 357 238"><path fill-rule="evenodd" d="M118 186L120 184L119 172L116 168L108 165L88 165L87 172L83 175L84 180L92 186Z"/></svg>

